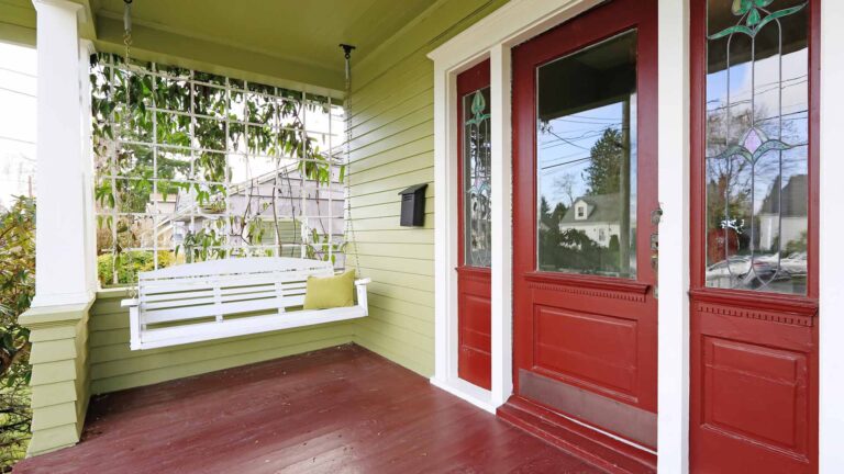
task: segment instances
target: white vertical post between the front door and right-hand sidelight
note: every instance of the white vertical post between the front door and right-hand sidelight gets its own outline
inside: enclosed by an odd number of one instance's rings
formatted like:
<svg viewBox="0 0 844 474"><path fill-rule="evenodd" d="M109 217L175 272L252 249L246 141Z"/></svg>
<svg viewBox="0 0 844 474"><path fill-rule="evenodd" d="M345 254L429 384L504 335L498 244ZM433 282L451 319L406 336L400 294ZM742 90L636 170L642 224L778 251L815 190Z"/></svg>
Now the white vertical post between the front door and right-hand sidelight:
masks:
<svg viewBox="0 0 844 474"><path fill-rule="evenodd" d="M659 0L657 466L689 470L689 4Z"/></svg>

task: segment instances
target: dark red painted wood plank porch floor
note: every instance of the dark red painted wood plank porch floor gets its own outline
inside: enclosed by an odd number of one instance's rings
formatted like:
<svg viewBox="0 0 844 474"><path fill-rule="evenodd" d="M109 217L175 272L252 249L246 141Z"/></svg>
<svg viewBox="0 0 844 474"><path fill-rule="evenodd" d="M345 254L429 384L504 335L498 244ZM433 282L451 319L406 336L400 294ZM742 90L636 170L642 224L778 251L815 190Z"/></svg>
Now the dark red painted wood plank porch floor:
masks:
<svg viewBox="0 0 844 474"><path fill-rule="evenodd" d="M91 400L14 473L600 473L357 346Z"/></svg>

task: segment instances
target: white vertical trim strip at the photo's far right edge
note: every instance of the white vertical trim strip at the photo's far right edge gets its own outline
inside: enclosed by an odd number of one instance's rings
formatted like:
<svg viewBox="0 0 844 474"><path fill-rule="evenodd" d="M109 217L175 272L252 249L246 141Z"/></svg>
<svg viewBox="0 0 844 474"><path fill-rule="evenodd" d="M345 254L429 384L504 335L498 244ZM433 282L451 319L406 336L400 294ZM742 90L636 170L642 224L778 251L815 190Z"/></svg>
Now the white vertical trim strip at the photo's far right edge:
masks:
<svg viewBox="0 0 844 474"><path fill-rule="evenodd" d="M820 129L820 472L844 472L844 273L841 203L844 162L839 134L844 129L844 2L821 2Z"/></svg>

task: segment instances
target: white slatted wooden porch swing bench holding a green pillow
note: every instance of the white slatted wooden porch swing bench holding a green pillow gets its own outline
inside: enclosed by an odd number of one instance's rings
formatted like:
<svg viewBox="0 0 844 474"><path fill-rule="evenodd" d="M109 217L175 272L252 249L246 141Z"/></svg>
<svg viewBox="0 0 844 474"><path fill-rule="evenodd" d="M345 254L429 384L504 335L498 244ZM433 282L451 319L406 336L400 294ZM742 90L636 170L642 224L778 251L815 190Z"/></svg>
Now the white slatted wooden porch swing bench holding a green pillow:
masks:
<svg viewBox="0 0 844 474"><path fill-rule="evenodd" d="M235 258L138 273L129 307L130 347L155 349L367 316L366 284L354 306L302 309L308 276L331 276L330 262Z"/></svg>

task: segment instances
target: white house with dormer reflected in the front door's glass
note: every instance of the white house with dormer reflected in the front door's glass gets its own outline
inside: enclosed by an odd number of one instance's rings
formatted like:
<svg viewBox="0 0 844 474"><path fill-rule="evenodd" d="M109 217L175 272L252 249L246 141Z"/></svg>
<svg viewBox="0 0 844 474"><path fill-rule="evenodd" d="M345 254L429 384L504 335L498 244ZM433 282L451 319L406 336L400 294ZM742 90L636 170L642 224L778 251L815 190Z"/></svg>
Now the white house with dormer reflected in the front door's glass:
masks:
<svg viewBox="0 0 844 474"><path fill-rule="evenodd" d="M559 219L559 232L579 230L601 247L620 233L619 194L585 195Z"/></svg>

